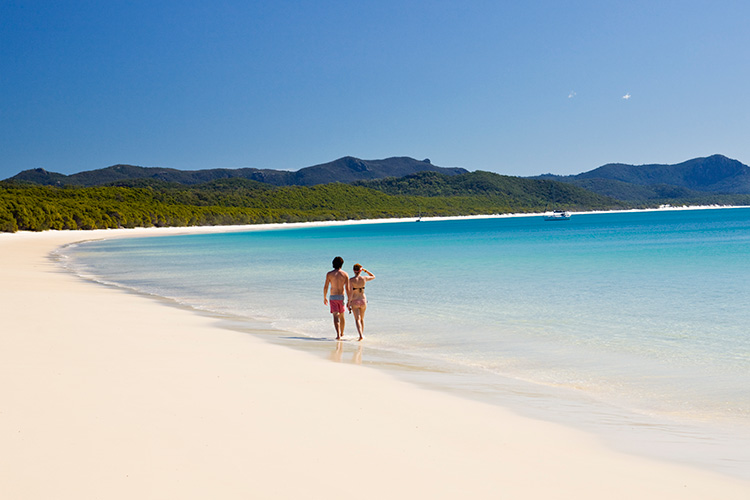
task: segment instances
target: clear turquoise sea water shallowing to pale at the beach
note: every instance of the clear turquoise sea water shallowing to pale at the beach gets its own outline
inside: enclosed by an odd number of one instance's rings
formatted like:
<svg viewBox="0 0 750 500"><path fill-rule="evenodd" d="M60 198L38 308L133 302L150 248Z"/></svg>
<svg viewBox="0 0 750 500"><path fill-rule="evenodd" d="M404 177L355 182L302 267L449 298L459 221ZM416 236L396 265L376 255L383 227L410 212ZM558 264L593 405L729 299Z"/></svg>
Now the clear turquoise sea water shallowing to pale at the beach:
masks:
<svg viewBox="0 0 750 500"><path fill-rule="evenodd" d="M259 320L277 342L604 428L625 448L750 469L750 209L286 228L63 254L83 276ZM336 255L376 275L363 345L327 342Z"/></svg>

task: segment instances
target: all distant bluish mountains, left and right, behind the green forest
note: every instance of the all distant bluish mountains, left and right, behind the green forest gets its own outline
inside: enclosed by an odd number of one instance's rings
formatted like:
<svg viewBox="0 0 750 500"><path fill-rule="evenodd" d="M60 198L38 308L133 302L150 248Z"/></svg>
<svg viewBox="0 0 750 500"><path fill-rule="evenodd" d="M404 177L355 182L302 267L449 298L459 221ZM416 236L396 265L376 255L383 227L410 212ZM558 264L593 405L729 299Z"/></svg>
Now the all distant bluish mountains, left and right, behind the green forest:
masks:
<svg viewBox="0 0 750 500"><path fill-rule="evenodd" d="M459 167L438 167L429 159L420 161L410 157L391 157L382 160L362 160L345 156L297 171L258 168L178 170L113 165L71 175L49 172L45 169L26 170L11 177L8 181L50 186L144 187L157 183L191 186L239 178L272 186L315 186L332 182L349 184L388 178L400 179L419 172L437 172L456 176L469 171ZM750 194L750 167L720 154L693 158L672 165L608 163L577 175L544 174L525 178L573 184L599 195L629 202L696 200L705 199L706 196ZM429 179L432 178L422 177L419 180ZM400 184L400 189L404 186L403 183ZM379 189L385 190L386 185L380 184Z"/></svg>

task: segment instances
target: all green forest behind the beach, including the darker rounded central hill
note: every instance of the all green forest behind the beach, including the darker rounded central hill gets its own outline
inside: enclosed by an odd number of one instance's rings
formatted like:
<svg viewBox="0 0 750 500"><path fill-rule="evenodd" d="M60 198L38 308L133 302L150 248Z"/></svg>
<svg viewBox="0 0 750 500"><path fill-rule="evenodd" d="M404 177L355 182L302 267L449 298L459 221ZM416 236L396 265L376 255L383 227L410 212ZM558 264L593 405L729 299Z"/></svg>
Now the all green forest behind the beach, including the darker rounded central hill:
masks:
<svg viewBox="0 0 750 500"><path fill-rule="evenodd" d="M247 179L185 186L134 179L100 187L0 183L0 231L257 224L622 208L569 184L488 172L275 187Z"/></svg>

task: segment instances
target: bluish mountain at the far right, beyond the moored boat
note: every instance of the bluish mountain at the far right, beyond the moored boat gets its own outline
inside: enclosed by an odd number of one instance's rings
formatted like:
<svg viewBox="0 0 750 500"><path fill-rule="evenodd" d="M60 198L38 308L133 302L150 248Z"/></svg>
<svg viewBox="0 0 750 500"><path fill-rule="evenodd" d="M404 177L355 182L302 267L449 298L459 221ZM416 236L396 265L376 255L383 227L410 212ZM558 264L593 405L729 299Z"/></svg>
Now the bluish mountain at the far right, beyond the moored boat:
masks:
<svg viewBox="0 0 750 500"><path fill-rule="evenodd" d="M750 167L722 155L695 158L676 165L611 163L571 176L535 179L568 182L621 200L655 200L750 194Z"/></svg>

